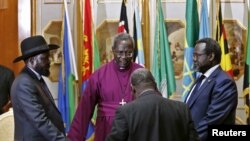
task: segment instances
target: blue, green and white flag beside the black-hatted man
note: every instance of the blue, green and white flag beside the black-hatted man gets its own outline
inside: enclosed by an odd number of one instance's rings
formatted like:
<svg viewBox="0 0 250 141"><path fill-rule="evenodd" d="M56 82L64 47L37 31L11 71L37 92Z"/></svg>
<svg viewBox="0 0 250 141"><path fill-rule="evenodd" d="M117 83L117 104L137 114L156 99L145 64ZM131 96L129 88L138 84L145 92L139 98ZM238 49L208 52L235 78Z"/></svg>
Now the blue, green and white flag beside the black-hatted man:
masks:
<svg viewBox="0 0 250 141"><path fill-rule="evenodd" d="M73 71L75 56L72 55L72 36L69 26L69 20L67 12L64 14L63 22L63 60L62 66L59 74L58 83L58 109L61 112L63 121L66 125L66 132L69 131L71 121L73 120L75 114L75 92L74 92L74 81L77 73Z"/></svg>

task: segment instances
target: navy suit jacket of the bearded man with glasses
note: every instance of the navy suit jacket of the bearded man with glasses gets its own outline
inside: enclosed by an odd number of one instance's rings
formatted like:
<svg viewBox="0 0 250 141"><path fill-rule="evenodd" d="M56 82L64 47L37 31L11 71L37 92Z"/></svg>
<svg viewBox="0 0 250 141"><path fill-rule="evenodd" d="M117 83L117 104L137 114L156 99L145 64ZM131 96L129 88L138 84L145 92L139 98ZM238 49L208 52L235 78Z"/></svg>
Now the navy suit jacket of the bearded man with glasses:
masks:
<svg viewBox="0 0 250 141"><path fill-rule="evenodd" d="M188 106L202 140L207 140L208 125L235 123L237 87L221 67L218 67L192 96L194 97Z"/></svg>

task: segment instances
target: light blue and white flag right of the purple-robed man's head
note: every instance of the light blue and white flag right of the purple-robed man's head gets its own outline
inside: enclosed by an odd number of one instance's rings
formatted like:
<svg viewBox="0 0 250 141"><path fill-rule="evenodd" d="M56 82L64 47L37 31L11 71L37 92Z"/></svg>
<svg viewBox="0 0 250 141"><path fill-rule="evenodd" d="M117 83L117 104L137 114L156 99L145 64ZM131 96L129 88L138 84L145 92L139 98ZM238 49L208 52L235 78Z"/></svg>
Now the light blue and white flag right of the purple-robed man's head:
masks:
<svg viewBox="0 0 250 141"><path fill-rule="evenodd" d="M135 2L135 13L134 13L134 40L135 40L135 62L145 66L144 51L141 33L141 22L140 22L139 7L137 1Z"/></svg>

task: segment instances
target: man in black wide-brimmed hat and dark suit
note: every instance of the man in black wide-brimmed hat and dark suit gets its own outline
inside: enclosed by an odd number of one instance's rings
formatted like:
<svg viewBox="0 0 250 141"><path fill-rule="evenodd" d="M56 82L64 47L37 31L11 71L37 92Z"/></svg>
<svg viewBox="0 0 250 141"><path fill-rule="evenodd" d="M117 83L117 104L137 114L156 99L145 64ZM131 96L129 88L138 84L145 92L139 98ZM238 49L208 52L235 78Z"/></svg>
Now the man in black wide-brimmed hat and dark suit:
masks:
<svg viewBox="0 0 250 141"><path fill-rule="evenodd" d="M49 76L49 51L57 49L38 35L21 43L25 67L11 87L15 119L15 141L65 141L64 125L53 97L42 76Z"/></svg>

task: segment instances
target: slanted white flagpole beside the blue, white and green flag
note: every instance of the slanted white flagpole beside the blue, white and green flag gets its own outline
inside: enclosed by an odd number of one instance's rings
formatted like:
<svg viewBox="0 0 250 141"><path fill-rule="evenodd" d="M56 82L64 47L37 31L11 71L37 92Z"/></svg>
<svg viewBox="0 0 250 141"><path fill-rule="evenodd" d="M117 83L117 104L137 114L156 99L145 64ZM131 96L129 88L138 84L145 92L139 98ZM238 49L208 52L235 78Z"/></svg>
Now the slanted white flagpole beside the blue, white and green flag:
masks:
<svg viewBox="0 0 250 141"><path fill-rule="evenodd" d="M64 7L65 7L65 14L66 14L66 18L68 20L66 20L66 24L69 27L68 28L68 33L69 33L69 48L70 48L70 56L72 57L72 62L73 62L73 71L74 71L74 75L75 75L75 80L78 80L78 73L77 73L77 68L76 68L76 60L75 60L75 52L73 49L73 41L72 41L72 34L71 34L71 30L70 30L70 23L69 23L69 15L68 15L68 7L67 7L67 0L64 0Z"/></svg>

